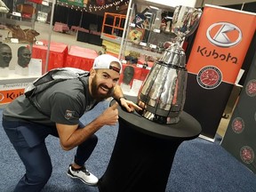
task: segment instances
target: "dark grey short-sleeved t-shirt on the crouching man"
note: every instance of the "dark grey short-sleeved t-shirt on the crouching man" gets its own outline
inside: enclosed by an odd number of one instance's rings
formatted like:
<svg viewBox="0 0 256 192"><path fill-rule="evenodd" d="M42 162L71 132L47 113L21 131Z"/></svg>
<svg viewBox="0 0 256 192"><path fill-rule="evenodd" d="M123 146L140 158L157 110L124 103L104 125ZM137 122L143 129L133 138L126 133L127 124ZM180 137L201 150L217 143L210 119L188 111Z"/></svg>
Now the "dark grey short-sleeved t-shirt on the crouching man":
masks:
<svg viewBox="0 0 256 192"><path fill-rule="evenodd" d="M84 77L83 81L87 85L88 77ZM3 115L7 118L50 126L54 126L55 123L78 124L79 118L96 102L90 95L88 86L84 90L83 84L78 79L69 79L54 84L44 92L38 93L36 100L44 113L50 117L41 114L24 95L4 108Z"/></svg>

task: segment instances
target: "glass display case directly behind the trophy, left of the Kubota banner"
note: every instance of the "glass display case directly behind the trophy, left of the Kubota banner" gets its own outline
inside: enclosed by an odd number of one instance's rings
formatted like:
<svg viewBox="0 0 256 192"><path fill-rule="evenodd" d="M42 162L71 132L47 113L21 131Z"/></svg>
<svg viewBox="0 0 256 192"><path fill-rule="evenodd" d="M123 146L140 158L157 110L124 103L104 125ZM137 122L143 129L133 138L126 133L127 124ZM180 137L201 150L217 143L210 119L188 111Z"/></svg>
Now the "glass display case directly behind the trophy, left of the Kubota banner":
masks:
<svg viewBox="0 0 256 192"><path fill-rule="evenodd" d="M119 84L127 95L136 96L154 62L175 37L171 32L174 7L142 0L128 6L119 59L124 63Z"/></svg>

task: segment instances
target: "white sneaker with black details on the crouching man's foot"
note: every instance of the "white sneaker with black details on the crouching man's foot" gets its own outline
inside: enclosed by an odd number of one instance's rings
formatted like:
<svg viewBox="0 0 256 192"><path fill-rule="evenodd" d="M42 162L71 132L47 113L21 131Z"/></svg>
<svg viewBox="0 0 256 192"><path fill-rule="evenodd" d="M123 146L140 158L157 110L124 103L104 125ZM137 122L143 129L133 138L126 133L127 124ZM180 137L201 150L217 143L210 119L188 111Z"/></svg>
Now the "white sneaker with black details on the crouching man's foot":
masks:
<svg viewBox="0 0 256 192"><path fill-rule="evenodd" d="M98 178L83 166L80 169L74 169L71 164L68 167L67 175L71 178L82 180L85 184L95 186L98 183Z"/></svg>

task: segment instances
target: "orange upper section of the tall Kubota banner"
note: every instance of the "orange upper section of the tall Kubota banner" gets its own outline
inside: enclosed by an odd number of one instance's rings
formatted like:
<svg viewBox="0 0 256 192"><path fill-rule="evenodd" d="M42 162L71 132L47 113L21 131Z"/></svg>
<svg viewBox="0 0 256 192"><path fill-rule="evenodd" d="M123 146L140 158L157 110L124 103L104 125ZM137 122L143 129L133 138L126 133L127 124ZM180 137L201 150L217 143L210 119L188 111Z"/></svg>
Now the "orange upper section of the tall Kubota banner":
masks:
<svg viewBox="0 0 256 192"><path fill-rule="evenodd" d="M234 84L254 34L250 28L254 17L247 12L205 6L189 56L188 72L198 74L205 66L212 66L220 70L222 82ZM209 81L214 77L208 76Z"/></svg>

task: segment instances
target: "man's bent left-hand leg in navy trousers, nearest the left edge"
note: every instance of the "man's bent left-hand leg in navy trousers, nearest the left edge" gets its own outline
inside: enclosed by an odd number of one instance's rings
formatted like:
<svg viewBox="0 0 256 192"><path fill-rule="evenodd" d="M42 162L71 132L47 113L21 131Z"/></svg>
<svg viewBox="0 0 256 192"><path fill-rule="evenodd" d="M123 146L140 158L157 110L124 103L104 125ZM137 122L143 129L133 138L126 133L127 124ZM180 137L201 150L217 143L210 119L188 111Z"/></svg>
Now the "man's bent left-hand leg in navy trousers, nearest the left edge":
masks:
<svg viewBox="0 0 256 192"><path fill-rule="evenodd" d="M32 124L30 124L32 125ZM28 144L24 137L24 130L29 124L20 124L19 122L6 122L3 120L4 131L12 142L13 147L20 156L25 165L26 173L20 179L14 192L37 192L44 188L52 174L51 158L45 147L44 140L31 146L33 141ZM34 124L34 126L36 126ZM37 127L34 127L37 128ZM20 131L22 130L22 131Z"/></svg>

